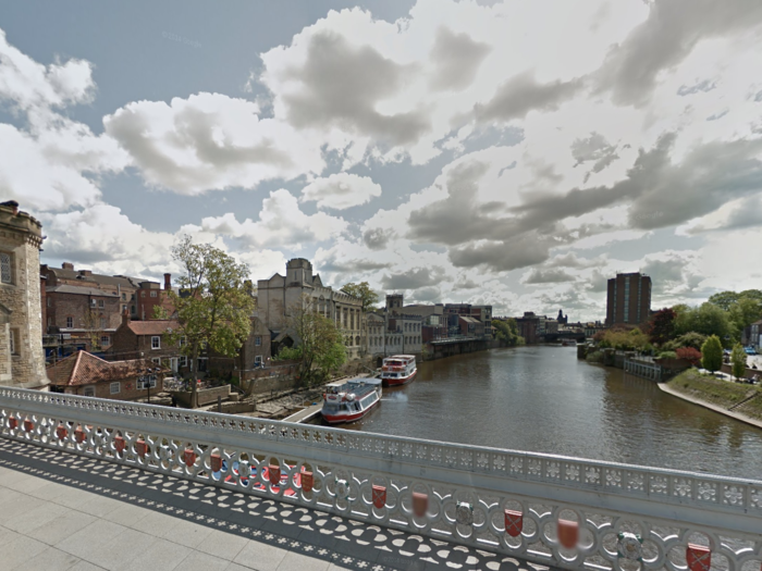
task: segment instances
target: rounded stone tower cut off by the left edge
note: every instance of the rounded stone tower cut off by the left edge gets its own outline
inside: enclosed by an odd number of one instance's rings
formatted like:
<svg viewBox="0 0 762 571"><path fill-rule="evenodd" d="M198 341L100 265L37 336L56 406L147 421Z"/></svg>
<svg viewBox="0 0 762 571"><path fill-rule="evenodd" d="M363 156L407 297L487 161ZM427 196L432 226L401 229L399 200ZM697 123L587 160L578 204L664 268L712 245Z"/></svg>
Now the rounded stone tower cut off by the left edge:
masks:
<svg viewBox="0 0 762 571"><path fill-rule="evenodd" d="M47 390L39 250L42 225L0 203L0 385Z"/></svg>

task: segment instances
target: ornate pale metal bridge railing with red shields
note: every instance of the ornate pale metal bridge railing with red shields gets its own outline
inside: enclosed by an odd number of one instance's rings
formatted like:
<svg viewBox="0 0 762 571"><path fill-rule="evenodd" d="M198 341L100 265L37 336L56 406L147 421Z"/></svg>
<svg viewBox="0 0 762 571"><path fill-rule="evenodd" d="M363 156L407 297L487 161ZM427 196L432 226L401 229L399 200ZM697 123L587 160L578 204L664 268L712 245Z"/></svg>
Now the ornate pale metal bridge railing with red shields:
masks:
<svg viewBox="0 0 762 571"><path fill-rule="evenodd" d="M762 569L760 481L8 387L0 436L552 567Z"/></svg>

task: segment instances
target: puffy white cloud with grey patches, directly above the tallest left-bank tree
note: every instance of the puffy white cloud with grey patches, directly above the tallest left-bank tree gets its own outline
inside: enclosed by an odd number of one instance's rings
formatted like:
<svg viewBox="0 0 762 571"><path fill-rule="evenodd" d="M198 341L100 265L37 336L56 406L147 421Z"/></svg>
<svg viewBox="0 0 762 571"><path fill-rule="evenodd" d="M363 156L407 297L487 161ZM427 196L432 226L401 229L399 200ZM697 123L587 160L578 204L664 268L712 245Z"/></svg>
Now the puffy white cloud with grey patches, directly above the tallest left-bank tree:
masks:
<svg viewBox="0 0 762 571"><path fill-rule="evenodd" d="M221 94L136 101L103 117L152 185L183 195L234 186L254 188L324 167L319 142L259 117L259 105Z"/></svg>

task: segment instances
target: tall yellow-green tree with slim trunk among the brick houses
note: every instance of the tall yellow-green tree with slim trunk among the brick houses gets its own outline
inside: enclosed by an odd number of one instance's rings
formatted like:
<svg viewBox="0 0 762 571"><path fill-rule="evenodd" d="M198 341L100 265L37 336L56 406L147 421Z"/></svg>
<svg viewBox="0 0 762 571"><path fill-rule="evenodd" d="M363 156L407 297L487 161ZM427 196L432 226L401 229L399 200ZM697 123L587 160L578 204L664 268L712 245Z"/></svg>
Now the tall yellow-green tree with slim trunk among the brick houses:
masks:
<svg viewBox="0 0 762 571"><path fill-rule="evenodd" d="M185 236L172 248L172 258L180 264L177 278L181 294L170 290L180 327L168 333L169 343L180 344L189 357L192 372L190 399L197 405L196 364L201 347L224 357L235 357L251 327L255 298L245 284L248 265L210 244L193 244ZM181 343L182 340L185 343Z"/></svg>

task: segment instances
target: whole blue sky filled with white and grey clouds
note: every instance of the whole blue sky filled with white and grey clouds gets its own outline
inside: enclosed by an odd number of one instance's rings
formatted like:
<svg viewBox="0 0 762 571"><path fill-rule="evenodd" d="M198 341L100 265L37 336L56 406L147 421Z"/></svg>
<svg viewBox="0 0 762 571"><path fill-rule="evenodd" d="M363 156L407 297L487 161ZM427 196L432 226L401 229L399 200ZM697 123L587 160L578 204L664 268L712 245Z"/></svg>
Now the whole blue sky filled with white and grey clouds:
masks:
<svg viewBox="0 0 762 571"><path fill-rule="evenodd" d="M698 305L762 287L762 2L4 2L0 199L97 273L189 235L406 303Z"/></svg>

